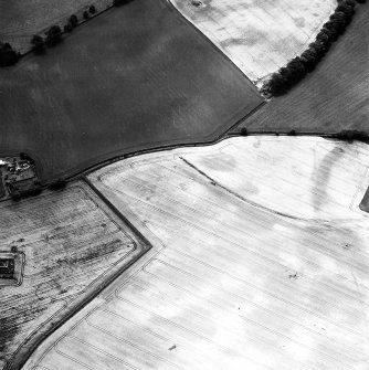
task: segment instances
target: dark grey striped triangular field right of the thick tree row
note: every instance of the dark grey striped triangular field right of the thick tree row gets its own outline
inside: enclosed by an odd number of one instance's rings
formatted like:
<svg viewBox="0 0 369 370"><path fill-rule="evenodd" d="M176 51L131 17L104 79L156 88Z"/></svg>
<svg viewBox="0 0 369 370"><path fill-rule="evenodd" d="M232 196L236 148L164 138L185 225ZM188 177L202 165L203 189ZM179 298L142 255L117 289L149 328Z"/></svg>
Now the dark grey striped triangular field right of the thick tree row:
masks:
<svg viewBox="0 0 369 370"><path fill-rule="evenodd" d="M251 131L337 133L368 130L369 3L357 8L352 23L317 68L288 94L275 97L242 123Z"/></svg>

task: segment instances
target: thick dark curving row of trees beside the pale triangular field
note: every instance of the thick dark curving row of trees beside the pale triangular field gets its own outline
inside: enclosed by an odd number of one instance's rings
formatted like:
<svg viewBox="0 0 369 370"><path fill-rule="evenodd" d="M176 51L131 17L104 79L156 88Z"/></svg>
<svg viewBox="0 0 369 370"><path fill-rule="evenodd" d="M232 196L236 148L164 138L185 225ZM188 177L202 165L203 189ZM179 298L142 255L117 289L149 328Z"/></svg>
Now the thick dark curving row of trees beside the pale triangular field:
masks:
<svg viewBox="0 0 369 370"><path fill-rule="evenodd" d="M358 1L358 0L357 0ZM365 2L360 0L358 2ZM262 93L267 96L280 96L287 93L294 85L312 72L329 50L330 45L341 35L351 22L355 13L354 0L339 0L335 12L330 15L315 41L299 56L294 57L275 72L263 87Z"/></svg>

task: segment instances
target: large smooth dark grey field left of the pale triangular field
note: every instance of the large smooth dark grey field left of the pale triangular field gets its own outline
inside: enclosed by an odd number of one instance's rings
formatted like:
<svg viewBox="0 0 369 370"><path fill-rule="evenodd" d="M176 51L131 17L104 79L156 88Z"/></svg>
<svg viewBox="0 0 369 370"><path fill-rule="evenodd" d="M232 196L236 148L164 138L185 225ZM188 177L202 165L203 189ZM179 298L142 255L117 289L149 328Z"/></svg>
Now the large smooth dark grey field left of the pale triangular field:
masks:
<svg viewBox="0 0 369 370"><path fill-rule="evenodd" d="M263 101L166 0L135 0L0 71L0 154L51 181L127 152L214 140Z"/></svg>

